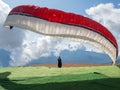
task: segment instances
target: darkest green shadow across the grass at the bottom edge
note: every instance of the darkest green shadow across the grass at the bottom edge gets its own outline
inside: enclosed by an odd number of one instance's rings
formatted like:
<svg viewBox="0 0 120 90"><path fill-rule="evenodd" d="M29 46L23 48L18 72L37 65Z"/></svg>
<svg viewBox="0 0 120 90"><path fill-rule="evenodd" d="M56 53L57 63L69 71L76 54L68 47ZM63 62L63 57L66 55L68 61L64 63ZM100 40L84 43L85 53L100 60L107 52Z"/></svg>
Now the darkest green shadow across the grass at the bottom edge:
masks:
<svg viewBox="0 0 120 90"><path fill-rule="evenodd" d="M10 72L0 73L0 86L5 90L120 90L120 78L45 84L18 84L8 78L10 74Z"/></svg>

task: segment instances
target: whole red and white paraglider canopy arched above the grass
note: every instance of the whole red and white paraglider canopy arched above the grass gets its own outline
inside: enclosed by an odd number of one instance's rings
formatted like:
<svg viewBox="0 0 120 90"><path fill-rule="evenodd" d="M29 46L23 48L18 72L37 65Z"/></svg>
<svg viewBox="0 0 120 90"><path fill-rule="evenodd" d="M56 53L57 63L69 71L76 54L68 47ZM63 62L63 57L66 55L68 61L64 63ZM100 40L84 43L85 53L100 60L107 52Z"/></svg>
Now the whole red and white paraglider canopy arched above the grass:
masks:
<svg viewBox="0 0 120 90"><path fill-rule="evenodd" d="M61 10L21 5L9 13L5 26L14 26L44 35L71 38L91 44L108 54L113 64L118 56L118 44L112 33L87 17Z"/></svg>

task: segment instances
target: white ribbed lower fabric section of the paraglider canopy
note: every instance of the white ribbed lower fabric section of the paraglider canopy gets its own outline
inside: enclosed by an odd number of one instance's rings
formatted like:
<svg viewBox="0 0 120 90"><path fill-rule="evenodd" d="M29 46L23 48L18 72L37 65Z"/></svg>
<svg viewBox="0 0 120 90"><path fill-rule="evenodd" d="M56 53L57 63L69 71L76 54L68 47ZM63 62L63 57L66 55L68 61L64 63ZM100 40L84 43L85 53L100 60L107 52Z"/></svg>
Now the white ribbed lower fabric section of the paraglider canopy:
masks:
<svg viewBox="0 0 120 90"><path fill-rule="evenodd" d="M16 26L44 35L64 37L73 41L91 44L108 54L113 64L116 61L116 48L113 44L101 34L87 28L24 15L8 15L5 26Z"/></svg>

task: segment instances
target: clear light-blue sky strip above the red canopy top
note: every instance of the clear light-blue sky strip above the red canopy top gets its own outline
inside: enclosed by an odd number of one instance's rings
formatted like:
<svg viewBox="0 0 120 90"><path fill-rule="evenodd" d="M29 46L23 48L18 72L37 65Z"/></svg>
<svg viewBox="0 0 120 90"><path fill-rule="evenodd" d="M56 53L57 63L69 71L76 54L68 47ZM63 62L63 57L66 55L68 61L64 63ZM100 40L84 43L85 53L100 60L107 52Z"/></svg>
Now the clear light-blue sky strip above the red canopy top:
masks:
<svg viewBox="0 0 120 90"><path fill-rule="evenodd" d="M49 8L61 9L78 14L86 14L85 9L96 6L100 3L113 3L116 7L120 0L4 0L11 8L21 4L33 4Z"/></svg>

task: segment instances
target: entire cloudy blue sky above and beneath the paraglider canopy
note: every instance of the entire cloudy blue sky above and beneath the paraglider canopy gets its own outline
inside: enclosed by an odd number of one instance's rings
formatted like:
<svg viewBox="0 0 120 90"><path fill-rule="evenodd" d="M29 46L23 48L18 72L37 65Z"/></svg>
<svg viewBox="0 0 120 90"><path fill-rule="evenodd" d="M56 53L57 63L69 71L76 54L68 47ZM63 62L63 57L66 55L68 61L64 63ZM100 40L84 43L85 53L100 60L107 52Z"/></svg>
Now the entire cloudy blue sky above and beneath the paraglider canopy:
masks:
<svg viewBox="0 0 120 90"><path fill-rule="evenodd" d="M86 44L53 39L19 28L13 31L4 30L1 24L4 24L10 9L22 4L33 4L88 16L106 26L120 44L120 0L2 0L2 2L3 4L0 4L2 16L0 17L0 66L55 63L58 55L61 55L64 62L111 62L104 52ZM111 15L108 15L106 10ZM42 46L44 47L41 49ZM49 58L53 61L50 62Z"/></svg>

